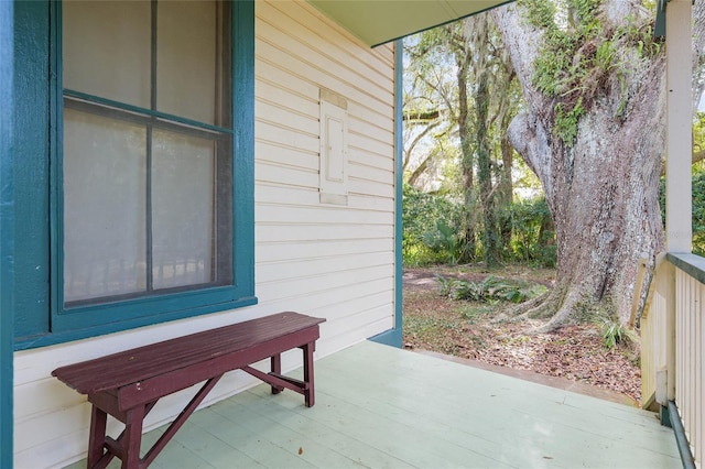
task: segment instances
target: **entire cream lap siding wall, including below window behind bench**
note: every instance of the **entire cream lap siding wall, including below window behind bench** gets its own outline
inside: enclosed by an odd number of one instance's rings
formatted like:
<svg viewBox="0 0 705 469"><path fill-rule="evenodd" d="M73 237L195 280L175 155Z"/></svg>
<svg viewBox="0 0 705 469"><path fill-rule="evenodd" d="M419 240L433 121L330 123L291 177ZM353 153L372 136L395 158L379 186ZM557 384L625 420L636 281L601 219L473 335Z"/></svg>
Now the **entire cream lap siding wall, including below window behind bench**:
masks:
<svg viewBox="0 0 705 469"><path fill-rule="evenodd" d="M85 457L89 406L51 378L62 364L284 309L327 318L318 357L392 328L393 50L366 47L302 1L258 1L256 10L259 305L15 353L18 469L63 467ZM345 206L319 201L322 88L348 103ZM300 360L290 352L284 366ZM252 382L231 373L209 403ZM186 394L160 402L148 428L172 418Z"/></svg>

